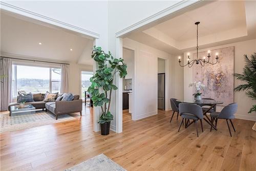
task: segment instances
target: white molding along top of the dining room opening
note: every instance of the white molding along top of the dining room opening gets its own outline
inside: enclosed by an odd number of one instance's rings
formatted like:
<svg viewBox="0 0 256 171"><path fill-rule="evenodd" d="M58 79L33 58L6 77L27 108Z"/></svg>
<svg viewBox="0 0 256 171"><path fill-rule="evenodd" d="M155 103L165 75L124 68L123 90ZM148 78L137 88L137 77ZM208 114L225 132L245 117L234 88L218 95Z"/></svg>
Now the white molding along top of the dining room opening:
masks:
<svg viewBox="0 0 256 171"><path fill-rule="evenodd" d="M127 33L130 33L142 26L145 26L147 24L150 24L152 22L155 22L156 20L159 20L159 19L162 19L166 16L169 16L169 15L172 15L174 14L175 12L178 12L180 10L183 10L185 8L187 8L188 6L191 6L191 5L195 5L195 4L198 4L198 3L201 3L203 2L203 0L198 0L198 1L195 1L195 0L183 0L175 5L172 5L162 11L159 11L158 13L154 14L154 15L151 15L145 19L142 19L141 21L123 29L123 30L120 30L119 32L116 33L116 37L121 37Z"/></svg>

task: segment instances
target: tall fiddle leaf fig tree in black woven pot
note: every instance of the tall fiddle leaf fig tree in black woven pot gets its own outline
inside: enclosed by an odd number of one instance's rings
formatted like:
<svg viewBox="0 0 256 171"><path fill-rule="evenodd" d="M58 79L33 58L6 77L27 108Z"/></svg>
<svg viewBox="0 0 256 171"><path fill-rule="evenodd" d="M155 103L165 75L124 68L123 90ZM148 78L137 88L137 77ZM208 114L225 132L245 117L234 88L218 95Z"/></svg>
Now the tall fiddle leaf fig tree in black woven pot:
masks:
<svg viewBox="0 0 256 171"><path fill-rule="evenodd" d="M110 112L112 92L118 88L114 85L113 80L118 73L120 78L127 75L127 66L122 58L113 58L111 52L105 53L101 47L93 48L92 58L97 62L98 70L90 78L91 86L88 92L91 93L94 106L100 106L101 116L98 123L100 124L101 135L110 133L110 122L113 115Z"/></svg>

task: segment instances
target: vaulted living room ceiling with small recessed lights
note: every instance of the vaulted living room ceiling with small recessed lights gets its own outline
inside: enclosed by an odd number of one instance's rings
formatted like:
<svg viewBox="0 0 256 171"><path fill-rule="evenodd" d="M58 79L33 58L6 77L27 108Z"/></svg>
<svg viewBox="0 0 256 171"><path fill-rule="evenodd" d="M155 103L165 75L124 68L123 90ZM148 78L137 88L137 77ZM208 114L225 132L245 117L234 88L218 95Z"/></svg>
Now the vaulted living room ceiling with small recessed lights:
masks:
<svg viewBox="0 0 256 171"><path fill-rule="evenodd" d="M1 11L1 55L92 65L92 46L89 38Z"/></svg>

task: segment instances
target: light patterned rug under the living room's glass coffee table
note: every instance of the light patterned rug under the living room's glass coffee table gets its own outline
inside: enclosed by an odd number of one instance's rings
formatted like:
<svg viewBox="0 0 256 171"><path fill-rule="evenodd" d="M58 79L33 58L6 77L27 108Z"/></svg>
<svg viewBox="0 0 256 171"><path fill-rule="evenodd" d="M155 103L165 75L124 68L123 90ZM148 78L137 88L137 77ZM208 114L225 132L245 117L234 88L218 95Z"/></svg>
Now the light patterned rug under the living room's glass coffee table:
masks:
<svg viewBox="0 0 256 171"><path fill-rule="evenodd" d="M71 116L72 115L72 116ZM29 129L31 127L37 127L52 123L66 122L75 120L73 116L79 116L79 114L71 115L59 115L58 120L55 119L55 115L50 112L37 111L35 114L9 116L9 114L0 115L1 130L0 133L6 133L17 130Z"/></svg>

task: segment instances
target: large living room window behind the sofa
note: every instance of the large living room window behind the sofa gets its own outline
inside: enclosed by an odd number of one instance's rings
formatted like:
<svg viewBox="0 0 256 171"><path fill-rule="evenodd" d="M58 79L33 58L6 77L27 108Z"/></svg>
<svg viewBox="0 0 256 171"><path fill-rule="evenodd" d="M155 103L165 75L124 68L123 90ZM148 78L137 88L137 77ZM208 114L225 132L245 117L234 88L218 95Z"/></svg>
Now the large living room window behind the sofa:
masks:
<svg viewBox="0 0 256 171"><path fill-rule="evenodd" d="M13 65L12 91L17 97L20 90L31 93L60 92L60 69Z"/></svg>

